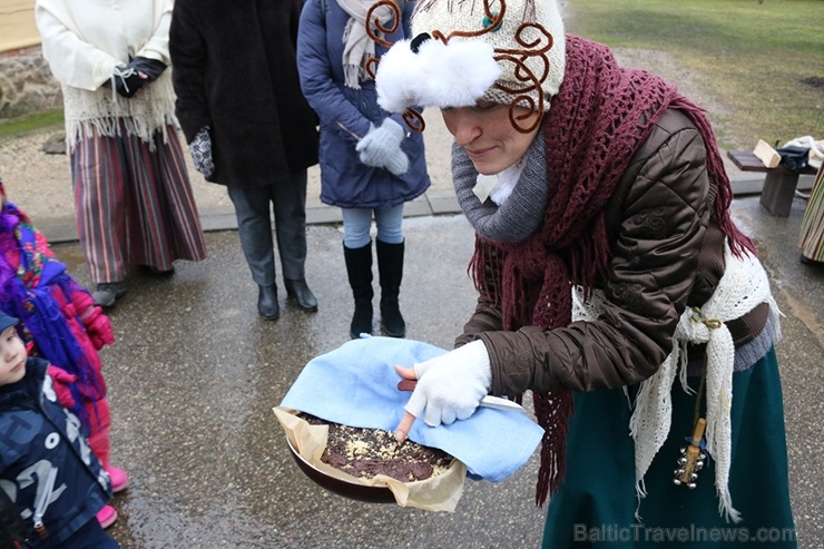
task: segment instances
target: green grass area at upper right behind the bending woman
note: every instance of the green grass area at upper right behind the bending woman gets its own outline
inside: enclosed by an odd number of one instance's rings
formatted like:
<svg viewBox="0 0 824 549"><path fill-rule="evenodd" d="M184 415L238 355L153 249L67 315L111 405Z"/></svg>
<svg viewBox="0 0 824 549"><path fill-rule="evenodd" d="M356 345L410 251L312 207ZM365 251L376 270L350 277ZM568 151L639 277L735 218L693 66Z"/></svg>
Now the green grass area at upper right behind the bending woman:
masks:
<svg viewBox="0 0 824 549"><path fill-rule="evenodd" d="M706 76L729 106L716 117L723 146L824 138L821 0L570 0L570 32L666 51Z"/></svg>

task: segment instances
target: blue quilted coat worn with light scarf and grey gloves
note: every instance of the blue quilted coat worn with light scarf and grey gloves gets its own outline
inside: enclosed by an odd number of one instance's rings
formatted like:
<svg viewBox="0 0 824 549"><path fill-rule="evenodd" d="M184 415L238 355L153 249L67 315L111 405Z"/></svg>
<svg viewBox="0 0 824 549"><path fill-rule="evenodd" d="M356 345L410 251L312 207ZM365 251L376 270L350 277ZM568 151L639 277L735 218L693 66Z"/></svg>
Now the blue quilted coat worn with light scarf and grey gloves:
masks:
<svg viewBox="0 0 824 549"><path fill-rule="evenodd" d="M412 33L410 17L414 2L401 4L403 24L384 37L389 42L410 38ZM410 131L403 140L401 148L409 157L409 170L400 177L359 159L355 150L359 137L366 135L370 122L380 126L390 114L377 106L374 80L362 80L361 89L344 86L341 37L349 18L335 0L307 0L301 16L297 39L301 86L321 118L321 200L342 208L390 208L416 198L430 186L423 136ZM375 45L376 57L385 51L386 48ZM392 119L406 128L400 115L392 115Z"/></svg>

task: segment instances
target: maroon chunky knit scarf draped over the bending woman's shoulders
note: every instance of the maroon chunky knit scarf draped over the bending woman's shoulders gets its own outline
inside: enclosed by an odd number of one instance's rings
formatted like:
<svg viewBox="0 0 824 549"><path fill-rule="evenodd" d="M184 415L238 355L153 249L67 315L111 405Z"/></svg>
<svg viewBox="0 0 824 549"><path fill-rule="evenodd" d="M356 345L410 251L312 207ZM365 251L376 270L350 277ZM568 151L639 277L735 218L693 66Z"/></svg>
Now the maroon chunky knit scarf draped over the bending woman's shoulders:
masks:
<svg viewBox="0 0 824 549"><path fill-rule="evenodd" d="M618 67L606 46L567 36L563 84L543 124L549 193L543 224L517 244L479 236L470 264L478 291L500 306L503 330L552 330L571 322L571 285L591 292L607 273L604 206L635 150L669 108L688 116L704 138L707 169L717 185L715 217L733 251L755 252L729 218L729 179L704 111L657 76ZM536 491L536 503L542 506L563 478L572 395L567 390L534 392L533 401L545 429Z"/></svg>

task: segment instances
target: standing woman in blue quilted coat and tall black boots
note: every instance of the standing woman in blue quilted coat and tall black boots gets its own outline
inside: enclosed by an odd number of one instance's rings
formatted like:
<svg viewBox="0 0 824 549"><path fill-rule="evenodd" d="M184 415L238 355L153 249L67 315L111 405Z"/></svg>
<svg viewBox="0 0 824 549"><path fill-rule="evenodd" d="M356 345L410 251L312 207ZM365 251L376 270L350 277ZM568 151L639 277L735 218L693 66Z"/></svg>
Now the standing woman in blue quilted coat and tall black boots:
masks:
<svg viewBox="0 0 824 549"><path fill-rule="evenodd" d="M403 0L307 0L301 13L297 68L321 121L321 200L342 209L353 339L372 333L373 216L382 333L406 333L398 301L403 205L422 195L430 178L421 133L377 105L373 73L392 43L411 37L413 8Z"/></svg>

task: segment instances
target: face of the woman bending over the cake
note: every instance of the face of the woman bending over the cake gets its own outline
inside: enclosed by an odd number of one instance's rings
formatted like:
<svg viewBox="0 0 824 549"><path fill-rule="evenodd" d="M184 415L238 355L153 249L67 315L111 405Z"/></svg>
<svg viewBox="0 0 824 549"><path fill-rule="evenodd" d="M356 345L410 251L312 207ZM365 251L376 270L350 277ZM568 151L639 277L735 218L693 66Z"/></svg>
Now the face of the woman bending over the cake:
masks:
<svg viewBox="0 0 824 549"><path fill-rule="evenodd" d="M516 129L509 118L509 105L490 101L478 101L474 107L453 107L441 109L447 129L455 143L467 150L479 174L500 174L516 164L527 154L540 124L524 134ZM531 127L541 112L531 112L527 108L516 107L516 117Z"/></svg>

